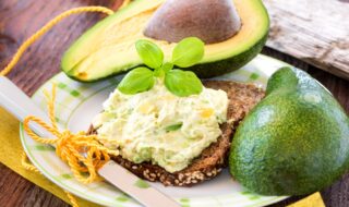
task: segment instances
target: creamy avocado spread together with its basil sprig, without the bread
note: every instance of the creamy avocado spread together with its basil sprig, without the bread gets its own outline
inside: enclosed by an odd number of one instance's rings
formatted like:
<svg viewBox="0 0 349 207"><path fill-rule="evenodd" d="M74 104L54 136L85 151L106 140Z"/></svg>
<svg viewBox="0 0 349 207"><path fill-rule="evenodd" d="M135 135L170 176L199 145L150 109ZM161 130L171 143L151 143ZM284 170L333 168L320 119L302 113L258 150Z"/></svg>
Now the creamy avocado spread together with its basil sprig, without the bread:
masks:
<svg viewBox="0 0 349 207"><path fill-rule="evenodd" d="M136 42L144 62L156 70L133 70L104 102L93 127L105 146L119 149L122 158L134 163L151 162L172 173L217 142L220 124L227 121L227 93L204 87L192 72L171 69L200 61L203 46L197 38L185 38L174 48L172 62L163 64L156 45ZM191 51L181 56L189 48ZM132 78L133 74L137 77ZM135 85L141 75L147 77L143 83L149 82L144 88Z"/></svg>

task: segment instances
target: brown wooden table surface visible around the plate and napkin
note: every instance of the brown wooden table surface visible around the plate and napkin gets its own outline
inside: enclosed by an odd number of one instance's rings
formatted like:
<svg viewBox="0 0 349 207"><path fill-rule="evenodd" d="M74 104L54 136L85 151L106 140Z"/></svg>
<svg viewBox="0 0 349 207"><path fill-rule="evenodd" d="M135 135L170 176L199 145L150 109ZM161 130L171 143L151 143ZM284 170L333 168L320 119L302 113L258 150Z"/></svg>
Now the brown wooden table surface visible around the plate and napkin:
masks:
<svg viewBox="0 0 349 207"><path fill-rule="evenodd" d="M112 3L111 3L112 2ZM110 0L1 0L0 1L0 69L16 48L48 20L79 5L118 7L121 1ZM44 82L60 71L60 57L68 46L92 26L99 14L80 14L63 21L29 48L9 77L25 93L32 95ZM265 48L263 53L275 57L308 71L325 85L349 112L349 82L323 72L287 54ZM349 206L349 174L322 192L326 206ZM292 197L273 206L285 206L300 197ZM1 206L68 206L52 194L21 178L0 163Z"/></svg>

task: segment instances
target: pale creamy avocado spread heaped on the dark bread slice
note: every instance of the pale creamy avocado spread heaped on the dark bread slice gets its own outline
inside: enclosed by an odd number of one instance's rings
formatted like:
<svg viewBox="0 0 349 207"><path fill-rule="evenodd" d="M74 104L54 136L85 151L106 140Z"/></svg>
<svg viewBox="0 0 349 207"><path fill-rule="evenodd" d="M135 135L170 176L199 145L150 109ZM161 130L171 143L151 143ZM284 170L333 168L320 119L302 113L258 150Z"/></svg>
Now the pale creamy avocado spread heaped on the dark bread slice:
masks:
<svg viewBox="0 0 349 207"><path fill-rule="evenodd" d="M149 161L176 172L221 135L227 120L224 90L203 88L198 95L178 97L157 80L144 93L125 95L116 89L93 121L105 146L119 149L130 161Z"/></svg>

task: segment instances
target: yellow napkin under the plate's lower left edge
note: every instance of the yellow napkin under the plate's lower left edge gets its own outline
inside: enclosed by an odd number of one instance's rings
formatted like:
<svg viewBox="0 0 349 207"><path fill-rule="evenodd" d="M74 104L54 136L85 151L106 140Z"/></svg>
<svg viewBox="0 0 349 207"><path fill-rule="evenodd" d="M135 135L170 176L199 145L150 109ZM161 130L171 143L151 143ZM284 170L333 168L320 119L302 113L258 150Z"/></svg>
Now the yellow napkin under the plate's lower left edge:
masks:
<svg viewBox="0 0 349 207"><path fill-rule="evenodd" d="M14 117L0 107L0 161L23 178L70 204L65 193L59 186L51 183L44 175L27 171L22 167L21 155L23 148L20 141L19 124L20 122ZM82 207L98 206L80 198L77 198L77 203Z"/></svg>

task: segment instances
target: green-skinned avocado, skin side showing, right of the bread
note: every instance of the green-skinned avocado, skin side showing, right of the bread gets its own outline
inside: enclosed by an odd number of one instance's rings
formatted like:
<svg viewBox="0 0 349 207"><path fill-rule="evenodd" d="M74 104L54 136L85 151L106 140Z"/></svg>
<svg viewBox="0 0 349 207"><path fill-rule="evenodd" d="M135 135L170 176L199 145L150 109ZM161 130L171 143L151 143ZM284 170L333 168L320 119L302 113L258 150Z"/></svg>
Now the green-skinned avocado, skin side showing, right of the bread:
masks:
<svg viewBox="0 0 349 207"><path fill-rule="evenodd" d="M250 191L301 195L322 190L349 167L349 119L318 82L282 68L234 134L230 172Z"/></svg>

